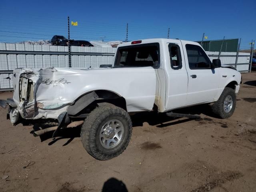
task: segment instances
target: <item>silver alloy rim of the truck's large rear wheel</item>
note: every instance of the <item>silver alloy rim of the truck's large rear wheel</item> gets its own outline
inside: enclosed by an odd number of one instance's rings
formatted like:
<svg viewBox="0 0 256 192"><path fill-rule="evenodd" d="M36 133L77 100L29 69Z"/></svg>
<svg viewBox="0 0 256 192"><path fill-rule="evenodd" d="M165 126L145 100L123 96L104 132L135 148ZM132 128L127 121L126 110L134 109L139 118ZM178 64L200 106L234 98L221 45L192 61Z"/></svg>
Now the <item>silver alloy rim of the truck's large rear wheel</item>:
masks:
<svg viewBox="0 0 256 192"><path fill-rule="evenodd" d="M107 149L116 147L124 135L124 126L120 120L109 120L100 130L100 144Z"/></svg>

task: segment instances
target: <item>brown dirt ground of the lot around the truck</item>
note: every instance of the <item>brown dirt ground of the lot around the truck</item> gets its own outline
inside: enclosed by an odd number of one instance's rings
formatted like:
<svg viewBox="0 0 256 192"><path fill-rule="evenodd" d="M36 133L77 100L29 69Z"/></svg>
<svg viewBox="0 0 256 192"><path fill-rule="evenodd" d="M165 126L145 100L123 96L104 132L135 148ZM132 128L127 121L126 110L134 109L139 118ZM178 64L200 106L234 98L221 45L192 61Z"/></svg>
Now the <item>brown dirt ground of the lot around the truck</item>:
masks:
<svg viewBox="0 0 256 192"><path fill-rule="evenodd" d="M198 120L136 114L128 148L108 161L84 150L79 128L34 137L0 108L0 191L255 192L256 73L242 76L232 117L214 118L208 106L186 109Z"/></svg>

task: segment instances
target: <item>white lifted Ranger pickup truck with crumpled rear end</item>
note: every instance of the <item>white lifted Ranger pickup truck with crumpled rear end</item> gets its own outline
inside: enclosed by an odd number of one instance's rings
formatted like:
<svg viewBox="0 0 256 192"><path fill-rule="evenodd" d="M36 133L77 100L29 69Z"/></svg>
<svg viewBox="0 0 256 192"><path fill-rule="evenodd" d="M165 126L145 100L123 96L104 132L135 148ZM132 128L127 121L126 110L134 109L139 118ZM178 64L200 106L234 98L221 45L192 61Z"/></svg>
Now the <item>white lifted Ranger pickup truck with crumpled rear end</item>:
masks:
<svg viewBox="0 0 256 192"><path fill-rule="evenodd" d="M146 39L120 44L110 68L18 68L14 70L12 124L48 120L48 131L82 124L81 139L98 160L121 154L132 135L132 112L171 114L175 109L211 103L213 113L230 117L236 107L240 72L210 60L200 44Z"/></svg>

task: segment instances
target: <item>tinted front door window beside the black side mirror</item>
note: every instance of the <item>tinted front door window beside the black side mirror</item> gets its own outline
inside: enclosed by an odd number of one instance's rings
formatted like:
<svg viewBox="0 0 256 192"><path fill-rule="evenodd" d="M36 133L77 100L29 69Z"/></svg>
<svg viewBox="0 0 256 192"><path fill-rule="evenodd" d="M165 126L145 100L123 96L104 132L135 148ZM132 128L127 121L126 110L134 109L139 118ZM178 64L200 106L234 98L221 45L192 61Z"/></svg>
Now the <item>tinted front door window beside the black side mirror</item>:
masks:
<svg viewBox="0 0 256 192"><path fill-rule="evenodd" d="M186 44L186 50L190 69L210 69L211 61L200 46Z"/></svg>

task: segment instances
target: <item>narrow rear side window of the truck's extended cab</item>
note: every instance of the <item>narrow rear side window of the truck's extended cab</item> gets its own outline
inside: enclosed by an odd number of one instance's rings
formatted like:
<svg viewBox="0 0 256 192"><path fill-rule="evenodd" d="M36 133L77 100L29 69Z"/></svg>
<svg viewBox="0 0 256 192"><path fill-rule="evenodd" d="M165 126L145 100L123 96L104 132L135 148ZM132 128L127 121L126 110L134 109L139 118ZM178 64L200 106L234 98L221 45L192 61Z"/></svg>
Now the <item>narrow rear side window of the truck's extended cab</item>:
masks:
<svg viewBox="0 0 256 192"><path fill-rule="evenodd" d="M168 45L168 49L170 54L171 68L181 69L182 59L181 59L180 47L177 44L170 43Z"/></svg>

